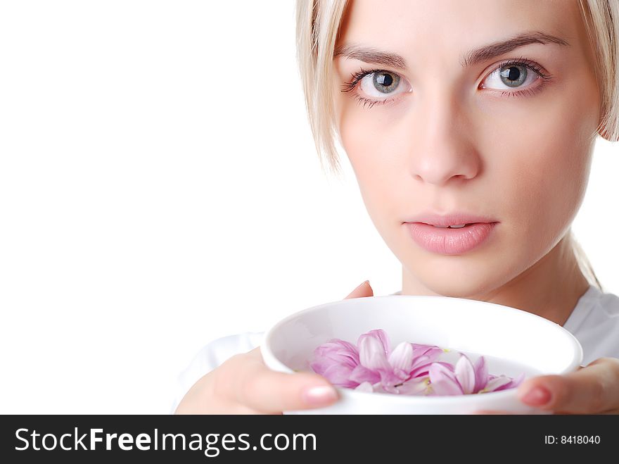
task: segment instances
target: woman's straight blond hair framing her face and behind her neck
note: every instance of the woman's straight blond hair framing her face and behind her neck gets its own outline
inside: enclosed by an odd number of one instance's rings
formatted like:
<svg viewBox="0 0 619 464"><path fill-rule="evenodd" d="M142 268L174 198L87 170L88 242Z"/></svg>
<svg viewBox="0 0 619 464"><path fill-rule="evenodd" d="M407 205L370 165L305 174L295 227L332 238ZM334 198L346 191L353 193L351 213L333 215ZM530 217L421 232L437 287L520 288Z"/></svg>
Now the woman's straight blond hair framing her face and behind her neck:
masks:
<svg viewBox="0 0 619 464"><path fill-rule="evenodd" d="M600 123L596 133L609 142L619 141L619 1L577 0L587 35L593 44L595 74L600 91ZM337 123L333 112L331 73L333 51L349 0L296 0L296 57L305 106L321 168L341 175L336 149ZM571 232L580 269L599 289L587 256Z"/></svg>

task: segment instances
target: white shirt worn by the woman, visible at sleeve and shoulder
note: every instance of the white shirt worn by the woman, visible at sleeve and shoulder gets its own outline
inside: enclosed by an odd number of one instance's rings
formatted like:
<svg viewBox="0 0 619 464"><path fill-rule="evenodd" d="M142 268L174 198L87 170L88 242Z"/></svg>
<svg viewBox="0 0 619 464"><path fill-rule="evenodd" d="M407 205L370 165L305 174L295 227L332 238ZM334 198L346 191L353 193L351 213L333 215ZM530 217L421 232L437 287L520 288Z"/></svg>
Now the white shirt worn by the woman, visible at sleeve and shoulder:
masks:
<svg viewBox="0 0 619 464"><path fill-rule="evenodd" d="M397 291L395 294L400 294ZM603 293L593 285L583 294L563 328L580 342L582 365L603 358L619 358L619 296ZM193 358L177 379L172 413L196 381L237 353L259 346L264 332L245 332L211 341Z"/></svg>

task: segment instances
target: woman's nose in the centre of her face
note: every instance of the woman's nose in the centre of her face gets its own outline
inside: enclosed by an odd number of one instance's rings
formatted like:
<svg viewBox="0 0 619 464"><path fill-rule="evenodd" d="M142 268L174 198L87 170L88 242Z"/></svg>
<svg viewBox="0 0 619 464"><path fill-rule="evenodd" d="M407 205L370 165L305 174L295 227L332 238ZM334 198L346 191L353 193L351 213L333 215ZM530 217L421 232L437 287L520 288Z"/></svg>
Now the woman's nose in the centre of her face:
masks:
<svg viewBox="0 0 619 464"><path fill-rule="evenodd" d="M447 98L430 100L415 111L411 175L435 185L473 179L482 163L461 108Z"/></svg>

